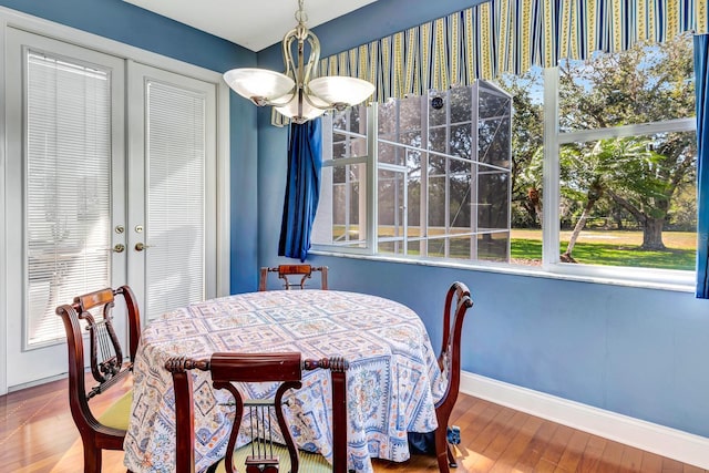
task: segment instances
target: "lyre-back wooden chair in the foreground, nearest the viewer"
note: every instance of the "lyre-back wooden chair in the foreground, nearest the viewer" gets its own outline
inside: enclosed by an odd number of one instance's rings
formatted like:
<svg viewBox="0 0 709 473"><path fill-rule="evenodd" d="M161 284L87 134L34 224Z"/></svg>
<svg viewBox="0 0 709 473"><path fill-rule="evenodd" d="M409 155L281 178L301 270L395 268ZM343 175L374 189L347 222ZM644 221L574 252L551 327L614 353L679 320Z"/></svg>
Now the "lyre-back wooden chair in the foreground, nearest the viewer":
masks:
<svg viewBox="0 0 709 473"><path fill-rule="evenodd" d="M345 371L348 369L348 363L342 358L301 361L298 352L214 353L208 360L171 358L165 363L165 368L173 373L175 388L176 473L193 473L195 467L193 377L189 373L189 370L194 369L209 371L214 388L229 391L235 402L235 419L226 457L216 467L213 465L209 471L234 473L238 469L239 472L246 473L278 471L298 473L300 469L308 472L347 472L348 422ZM282 398L286 391L301 387L302 370L317 368L329 369L331 374L332 465L319 454L300 452L296 448L284 414ZM237 381L278 382L279 385L274 399L257 401L244 399L240 391L232 383ZM245 409L250 413L251 420L255 418L261 420L260 423L257 421L256 432L251 422L251 432L249 432L251 438L260 440L251 441L235 450ZM270 432L267 431L274 411L286 442L285 446L274 443Z"/></svg>

